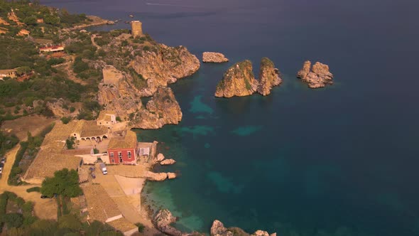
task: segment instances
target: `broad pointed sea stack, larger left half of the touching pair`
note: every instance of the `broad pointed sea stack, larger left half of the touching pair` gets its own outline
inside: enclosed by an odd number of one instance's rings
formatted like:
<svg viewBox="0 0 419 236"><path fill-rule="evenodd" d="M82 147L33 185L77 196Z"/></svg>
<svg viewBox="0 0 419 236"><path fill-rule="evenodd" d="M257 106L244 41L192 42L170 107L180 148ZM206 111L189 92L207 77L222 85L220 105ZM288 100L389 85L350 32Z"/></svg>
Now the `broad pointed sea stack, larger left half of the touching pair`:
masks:
<svg viewBox="0 0 419 236"><path fill-rule="evenodd" d="M248 96L254 94L259 82L255 80L250 60L232 65L218 82L215 97Z"/></svg>

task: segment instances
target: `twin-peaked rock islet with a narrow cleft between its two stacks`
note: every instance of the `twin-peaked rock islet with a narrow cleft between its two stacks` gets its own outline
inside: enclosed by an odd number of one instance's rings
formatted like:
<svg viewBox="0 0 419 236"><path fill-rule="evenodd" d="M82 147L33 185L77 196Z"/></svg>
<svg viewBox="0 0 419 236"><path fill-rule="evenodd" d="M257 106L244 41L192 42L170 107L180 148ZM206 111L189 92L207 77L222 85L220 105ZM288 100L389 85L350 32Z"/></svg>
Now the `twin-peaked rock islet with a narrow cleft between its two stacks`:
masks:
<svg viewBox="0 0 419 236"><path fill-rule="evenodd" d="M250 60L232 65L217 85L215 97L243 97L259 92L266 96L273 86L282 82L279 70L269 58L262 58L259 80L254 78L253 66Z"/></svg>

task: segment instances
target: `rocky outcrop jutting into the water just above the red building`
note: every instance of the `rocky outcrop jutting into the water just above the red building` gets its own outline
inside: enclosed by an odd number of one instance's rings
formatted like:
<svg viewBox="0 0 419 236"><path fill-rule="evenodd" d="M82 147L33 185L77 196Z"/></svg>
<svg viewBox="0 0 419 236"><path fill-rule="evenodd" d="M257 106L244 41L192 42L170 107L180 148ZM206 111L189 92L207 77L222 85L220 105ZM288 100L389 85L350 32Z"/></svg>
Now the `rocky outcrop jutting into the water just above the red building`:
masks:
<svg viewBox="0 0 419 236"><path fill-rule="evenodd" d="M165 124L179 124L182 111L170 87L158 87L146 109L137 112L130 126L141 129L159 129Z"/></svg>

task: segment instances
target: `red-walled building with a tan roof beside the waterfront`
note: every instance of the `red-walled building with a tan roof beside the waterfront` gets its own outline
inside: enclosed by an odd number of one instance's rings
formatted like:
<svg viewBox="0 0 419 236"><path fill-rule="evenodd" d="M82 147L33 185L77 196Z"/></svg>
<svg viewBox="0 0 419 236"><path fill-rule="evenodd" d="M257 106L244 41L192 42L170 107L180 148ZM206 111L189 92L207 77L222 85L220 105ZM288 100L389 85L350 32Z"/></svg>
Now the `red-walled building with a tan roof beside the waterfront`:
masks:
<svg viewBox="0 0 419 236"><path fill-rule="evenodd" d="M109 161L113 164L136 164L137 135L127 131L123 137L113 137L108 145Z"/></svg>

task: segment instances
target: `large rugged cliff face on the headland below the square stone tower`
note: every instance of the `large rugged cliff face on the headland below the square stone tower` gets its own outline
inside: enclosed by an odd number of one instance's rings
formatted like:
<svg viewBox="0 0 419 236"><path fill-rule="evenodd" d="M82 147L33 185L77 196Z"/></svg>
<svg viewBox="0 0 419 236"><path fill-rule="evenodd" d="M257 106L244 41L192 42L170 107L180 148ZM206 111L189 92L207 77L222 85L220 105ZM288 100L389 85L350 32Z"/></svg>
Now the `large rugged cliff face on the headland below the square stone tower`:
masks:
<svg viewBox="0 0 419 236"><path fill-rule="evenodd" d="M159 44L155 50L142 50L129 65L147 82L139 91L144 97L153 95L159 86L194 74L200 68L200 60L183 46L173 48Z"/></svg>

